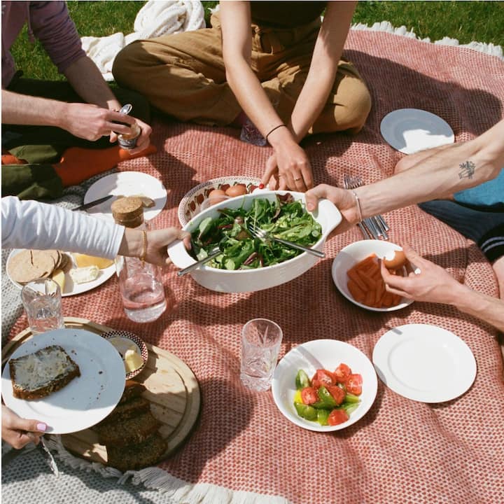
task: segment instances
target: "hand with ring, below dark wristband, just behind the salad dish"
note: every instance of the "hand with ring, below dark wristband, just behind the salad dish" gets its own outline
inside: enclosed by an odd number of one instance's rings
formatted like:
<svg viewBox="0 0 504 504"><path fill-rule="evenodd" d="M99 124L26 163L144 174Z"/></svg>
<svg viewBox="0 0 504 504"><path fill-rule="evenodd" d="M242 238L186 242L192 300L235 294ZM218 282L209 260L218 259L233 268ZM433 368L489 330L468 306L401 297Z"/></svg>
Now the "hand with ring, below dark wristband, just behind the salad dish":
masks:
<svg viewBox="0 0 504 504"><path fill-rule="evenodd" d="M294 141L281 144L269 156L261 183L272 190L290 189L304 193L313 187L308 156Z"/></svg>

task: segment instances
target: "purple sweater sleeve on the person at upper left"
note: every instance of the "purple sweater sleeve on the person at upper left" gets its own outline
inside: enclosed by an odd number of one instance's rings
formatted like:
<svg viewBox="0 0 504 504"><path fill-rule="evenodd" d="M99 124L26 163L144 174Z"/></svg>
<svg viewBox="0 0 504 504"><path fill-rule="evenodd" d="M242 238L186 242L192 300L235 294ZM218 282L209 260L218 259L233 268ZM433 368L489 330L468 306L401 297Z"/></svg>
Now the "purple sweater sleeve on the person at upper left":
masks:
<svg viewBox="0 0 504 504"><path fill-rule="evenodd" d="M64 1L31 1L29 29L41 41L59 73L85 56Z"/></svg>

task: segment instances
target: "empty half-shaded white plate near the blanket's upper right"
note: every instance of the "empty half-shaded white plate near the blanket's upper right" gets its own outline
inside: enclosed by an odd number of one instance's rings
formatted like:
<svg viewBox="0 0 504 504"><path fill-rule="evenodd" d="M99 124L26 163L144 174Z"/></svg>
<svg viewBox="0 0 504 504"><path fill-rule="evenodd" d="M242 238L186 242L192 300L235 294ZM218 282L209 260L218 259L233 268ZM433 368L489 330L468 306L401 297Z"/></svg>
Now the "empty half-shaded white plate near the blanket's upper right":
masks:
<svg viewBox="0 0 504 504"><path fill-rule="evenodd" d="M455 141L454 132L444 119L419 109L398 109L388 113L381 120L380 132L389 145L405 154Z"/></svg>

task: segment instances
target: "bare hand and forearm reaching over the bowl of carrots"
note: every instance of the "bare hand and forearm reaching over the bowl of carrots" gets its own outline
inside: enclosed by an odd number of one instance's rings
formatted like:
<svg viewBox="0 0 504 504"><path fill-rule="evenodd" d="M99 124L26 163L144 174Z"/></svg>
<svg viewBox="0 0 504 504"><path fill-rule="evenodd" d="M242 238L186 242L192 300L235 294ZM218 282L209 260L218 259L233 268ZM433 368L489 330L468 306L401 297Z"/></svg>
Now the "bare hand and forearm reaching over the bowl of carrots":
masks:
<svg viewBox="0 0 504 504"><path fill-rule="evenodd" d="M419 274L392 275L381 265L381 276L388 291L408 299L451 304L466 314L504 331L504 301L458 283L445 269L418 255L411 247L402 247L406 257L419 267Z"/></svg>

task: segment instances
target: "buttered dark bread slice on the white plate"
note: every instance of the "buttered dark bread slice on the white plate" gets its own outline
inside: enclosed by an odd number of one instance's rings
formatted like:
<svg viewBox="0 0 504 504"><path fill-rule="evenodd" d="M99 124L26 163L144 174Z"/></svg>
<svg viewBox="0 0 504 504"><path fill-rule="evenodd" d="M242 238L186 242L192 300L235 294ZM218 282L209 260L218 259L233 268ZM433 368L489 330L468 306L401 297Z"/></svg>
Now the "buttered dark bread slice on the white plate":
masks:
<svg viewBox="0 0 504 504"><path fill-rule="evenodd" d="M51 345L9 360L14 397L41 399L80 377L78 365L62 346Z"/></svg>

